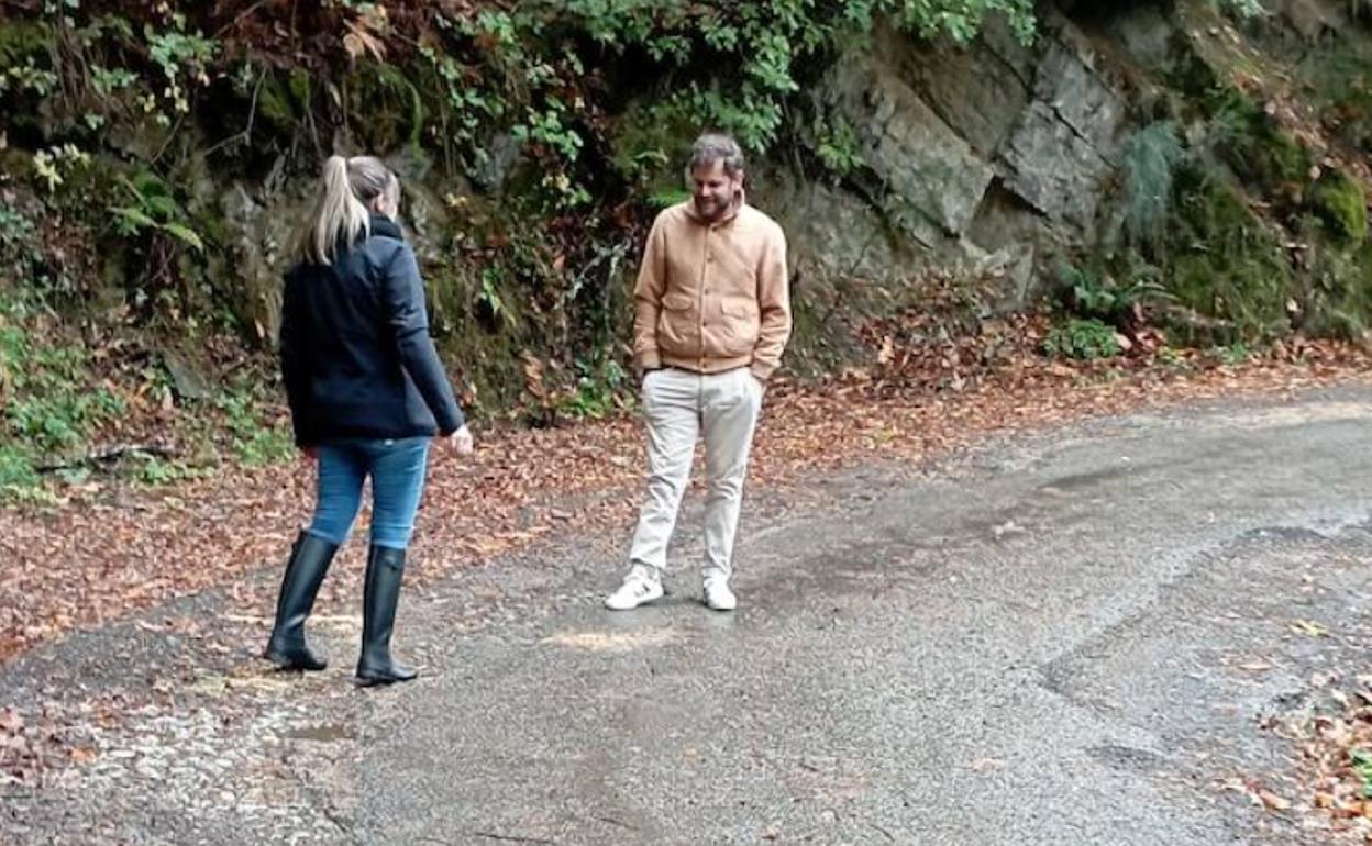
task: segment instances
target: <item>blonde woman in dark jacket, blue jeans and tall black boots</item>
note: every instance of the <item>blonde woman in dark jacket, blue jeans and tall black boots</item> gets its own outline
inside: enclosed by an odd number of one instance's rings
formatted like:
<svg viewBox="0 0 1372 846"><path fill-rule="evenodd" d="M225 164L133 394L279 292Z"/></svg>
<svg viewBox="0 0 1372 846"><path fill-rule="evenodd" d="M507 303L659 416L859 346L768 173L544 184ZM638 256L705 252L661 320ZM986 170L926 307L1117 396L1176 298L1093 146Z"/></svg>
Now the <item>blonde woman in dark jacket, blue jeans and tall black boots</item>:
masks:
<svg viewBox="0 0 1372 846"><path fill-rule="evenodd" d="M295 443L318 462L318 487L314 520L285 566L266 658L281 669L325 668L305 642L305 620L370 477L357 665L365 686L417 675L391 658L391 629L429 442L439 435L458 454L472 452L428 333L414 251L395 225L399 199L399 181L379 159L325 162L281 307L281 373Z"/></svg>

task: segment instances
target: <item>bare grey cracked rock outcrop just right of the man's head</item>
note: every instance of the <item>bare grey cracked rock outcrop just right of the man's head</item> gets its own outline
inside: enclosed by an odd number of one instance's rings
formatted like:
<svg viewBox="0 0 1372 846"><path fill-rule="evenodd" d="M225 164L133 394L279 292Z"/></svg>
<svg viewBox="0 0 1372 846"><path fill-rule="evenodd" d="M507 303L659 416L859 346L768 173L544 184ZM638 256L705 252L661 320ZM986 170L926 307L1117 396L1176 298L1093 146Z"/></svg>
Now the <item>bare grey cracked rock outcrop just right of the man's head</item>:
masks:
<svg viewBox="0 0 1372 846"><path fill-rule="evenodd" d="M1022 302L1045 247L1095 241L1128 95L1061 14L1033 47L999 29L967 49L895 32L874 47L842 56L814 92L856 130L866 226L829 186L796 188L778 204L804 210L782 213L799 255L826 273L890 278L918 263L997 265ZM833 222L811 211L825 206L840 210Z"/></svg>

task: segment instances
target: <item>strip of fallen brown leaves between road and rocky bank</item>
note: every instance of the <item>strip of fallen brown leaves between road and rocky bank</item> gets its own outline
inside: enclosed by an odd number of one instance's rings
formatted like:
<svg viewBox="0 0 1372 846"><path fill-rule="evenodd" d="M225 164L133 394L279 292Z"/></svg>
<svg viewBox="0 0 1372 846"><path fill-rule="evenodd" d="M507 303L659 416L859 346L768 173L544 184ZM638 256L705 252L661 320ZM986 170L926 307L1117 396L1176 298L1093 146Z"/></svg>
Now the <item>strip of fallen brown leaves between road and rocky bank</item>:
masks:
<svg viewBox="0 0 1372 846"><path fill-rule="evenodd" d="M1047 330L1037 317L986 321L970 335L929 330L915 314L874 326L868 366L818 384L779 380L770 388L750 484L812 485L833 469L870 461L914 465L989 435L1087 417L1372 384L1372 355L1354 344L1294 340L1232 363L1224 355L1140 343L1129 356L1077 362L1039 352ZM412 553L417 590L539 543L627 537L643 474L635 420L477 435L476 455L440 452L432 465ZM255 646L270 623L274 572L309 518L313 484L313 468L294 462L154 491L107 485L58 510L0 510L7 562L0 569L0 661L70 631L129 620L210 590L224 592L225 606L211 620L136 625L176 632L207 653L244 654L243 643ZM354 536L364 533L365 517ZM361 543L340 553L321 591L321 618L355 612L364 555ZM172 687L154 694L170 701ZM113 705L80 703L73 714L41 720L0 712L0 773L33 783L44 769L89 762L97 751L80 725L91 723L92 708L115 714L122 706L115 697ZM1284 801L1276 798L1264 803Z"/></svg>

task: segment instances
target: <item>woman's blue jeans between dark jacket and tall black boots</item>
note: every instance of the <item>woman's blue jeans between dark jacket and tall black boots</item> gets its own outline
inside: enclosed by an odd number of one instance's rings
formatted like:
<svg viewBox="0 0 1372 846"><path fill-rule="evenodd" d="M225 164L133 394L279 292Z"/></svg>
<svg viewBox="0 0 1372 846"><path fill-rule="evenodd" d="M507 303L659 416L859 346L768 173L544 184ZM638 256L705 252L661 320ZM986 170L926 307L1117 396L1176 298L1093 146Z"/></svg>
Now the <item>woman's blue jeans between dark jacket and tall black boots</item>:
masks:
<svg viewBox="0 0 1372 846"><path fill-rule="evenodd" d="M342 437L318 446L310 535L343 546L372 477L372 544L403 550L424 492L428 437Z"/></svg>

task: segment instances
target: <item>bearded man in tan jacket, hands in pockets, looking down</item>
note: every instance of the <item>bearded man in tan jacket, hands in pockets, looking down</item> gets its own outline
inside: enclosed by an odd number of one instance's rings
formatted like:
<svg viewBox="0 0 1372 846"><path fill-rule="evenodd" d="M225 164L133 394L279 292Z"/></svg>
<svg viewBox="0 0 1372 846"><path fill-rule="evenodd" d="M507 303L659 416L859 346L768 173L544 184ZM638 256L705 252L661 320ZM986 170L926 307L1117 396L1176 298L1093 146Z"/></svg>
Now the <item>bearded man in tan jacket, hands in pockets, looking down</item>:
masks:
<svg viewBox="0 0 1372 846"><path fill-rule="evenodd" d="M744 202L744 155L718 134L691 148L691 199L657 215L634 289L649 483L623 585L628 610L663 595L667 543L705 440L705 605L730 612L734 532L763 389L790 337L786 237Z"/></svg>

